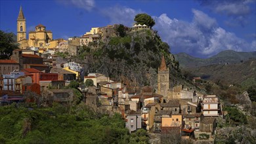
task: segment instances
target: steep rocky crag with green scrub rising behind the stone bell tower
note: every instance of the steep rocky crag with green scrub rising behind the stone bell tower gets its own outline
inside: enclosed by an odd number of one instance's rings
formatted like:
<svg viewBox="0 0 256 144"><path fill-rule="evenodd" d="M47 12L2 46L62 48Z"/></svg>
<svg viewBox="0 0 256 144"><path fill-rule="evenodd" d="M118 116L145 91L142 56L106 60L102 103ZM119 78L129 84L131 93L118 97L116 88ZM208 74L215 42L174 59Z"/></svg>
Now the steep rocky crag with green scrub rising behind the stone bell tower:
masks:
<svg viewBox="0 0 256 144"><path fill-rule="evenodd" d="M123 34L124 33L124 34ZM79 58L87 56L90 72L102 73L128 87L156 87L161 56L165 56L171 71L172 83L180 77L179 62L169 52L155 31L122 31L122 36L110 37L104 42L91 43L79 51Z"/></svg>

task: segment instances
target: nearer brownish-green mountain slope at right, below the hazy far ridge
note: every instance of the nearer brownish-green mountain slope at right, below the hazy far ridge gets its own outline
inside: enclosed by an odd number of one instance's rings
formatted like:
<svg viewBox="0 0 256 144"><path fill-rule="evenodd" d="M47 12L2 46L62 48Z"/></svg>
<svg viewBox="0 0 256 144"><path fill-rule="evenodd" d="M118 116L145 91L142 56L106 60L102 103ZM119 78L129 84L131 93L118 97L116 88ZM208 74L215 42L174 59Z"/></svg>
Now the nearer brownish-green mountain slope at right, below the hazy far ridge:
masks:
<svg viewBox="0 0 256 144"><path fill-rule="evenodd" d="M206 65L188 69L196 77L211 81L242 84L253 81L256 83L256 59L232 64Z"/></svg>

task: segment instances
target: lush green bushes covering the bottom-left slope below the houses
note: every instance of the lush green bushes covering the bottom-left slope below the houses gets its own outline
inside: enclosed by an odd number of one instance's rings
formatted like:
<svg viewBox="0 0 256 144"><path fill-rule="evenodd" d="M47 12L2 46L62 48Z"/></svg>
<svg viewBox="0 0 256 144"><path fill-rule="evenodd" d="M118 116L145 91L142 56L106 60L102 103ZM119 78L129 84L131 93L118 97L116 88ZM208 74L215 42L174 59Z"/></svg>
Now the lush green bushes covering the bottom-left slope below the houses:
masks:
<svg viewBox="0 0 256 144"><path fill-rule="evenodd" d="M0 107L0 117L0 143L148 143L145 130L129 134L121 115L93 113L83 103L72 109L13 103Z"/></svg>

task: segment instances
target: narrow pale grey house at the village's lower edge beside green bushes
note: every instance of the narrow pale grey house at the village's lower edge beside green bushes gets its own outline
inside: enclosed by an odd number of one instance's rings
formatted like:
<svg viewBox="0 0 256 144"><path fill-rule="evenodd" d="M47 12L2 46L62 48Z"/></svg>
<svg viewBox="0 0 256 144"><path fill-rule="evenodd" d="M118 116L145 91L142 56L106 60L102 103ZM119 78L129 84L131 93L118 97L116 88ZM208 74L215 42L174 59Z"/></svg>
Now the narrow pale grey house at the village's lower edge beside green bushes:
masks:
<svg viewBox="0 0 256 144"><path fill-rule="evenodd" d="M127 111L125 121L125 127L128 128L130 133L142 128L141 111Z"/></svg>

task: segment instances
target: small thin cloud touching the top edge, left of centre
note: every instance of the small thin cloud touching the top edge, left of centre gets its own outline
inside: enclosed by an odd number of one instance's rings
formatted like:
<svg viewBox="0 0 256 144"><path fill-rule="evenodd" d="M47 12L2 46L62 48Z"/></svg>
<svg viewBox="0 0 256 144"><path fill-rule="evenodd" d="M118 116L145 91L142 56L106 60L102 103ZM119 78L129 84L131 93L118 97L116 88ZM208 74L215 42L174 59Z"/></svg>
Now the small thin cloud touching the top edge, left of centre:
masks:
<svg viewBox="0 0 256 144"><path fill-rule="evenodd" d="M70 0L70 1L57 1L58 3L64 4L64 5L74 5L75 7L85 9L87 11L91 11L95 7L95 1L94 0Z"/></svg>

